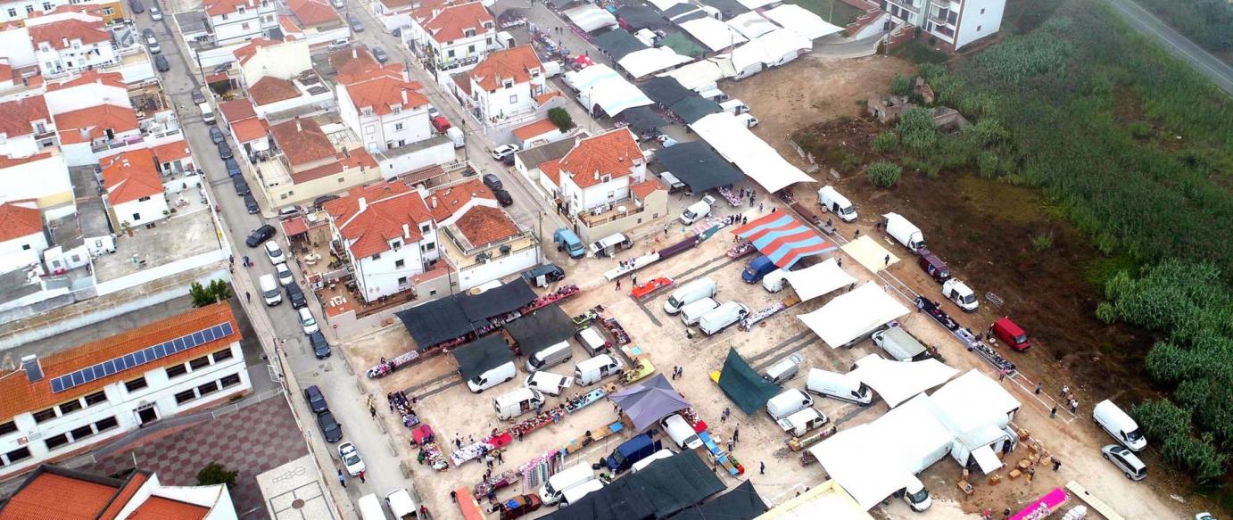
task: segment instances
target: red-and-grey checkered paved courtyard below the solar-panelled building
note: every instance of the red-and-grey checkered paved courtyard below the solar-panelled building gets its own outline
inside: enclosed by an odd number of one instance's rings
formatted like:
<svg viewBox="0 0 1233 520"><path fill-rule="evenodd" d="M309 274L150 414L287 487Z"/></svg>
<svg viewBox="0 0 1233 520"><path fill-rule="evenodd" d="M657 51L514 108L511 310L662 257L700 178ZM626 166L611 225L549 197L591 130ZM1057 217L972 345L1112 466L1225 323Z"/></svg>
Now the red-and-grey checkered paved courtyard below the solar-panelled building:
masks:
<svg viewBox="0 0 1233 520"><path fill-rule="evenodd" d="M308 453L291 409L282 398L207 420L171 435L116 451L83 468L102 474L131 469L133 453L142 469L158 473L163 485L196 485L197 471L211 461L239 469L231 489L242 519L266 519L265 500L256 474Z"/></svg>

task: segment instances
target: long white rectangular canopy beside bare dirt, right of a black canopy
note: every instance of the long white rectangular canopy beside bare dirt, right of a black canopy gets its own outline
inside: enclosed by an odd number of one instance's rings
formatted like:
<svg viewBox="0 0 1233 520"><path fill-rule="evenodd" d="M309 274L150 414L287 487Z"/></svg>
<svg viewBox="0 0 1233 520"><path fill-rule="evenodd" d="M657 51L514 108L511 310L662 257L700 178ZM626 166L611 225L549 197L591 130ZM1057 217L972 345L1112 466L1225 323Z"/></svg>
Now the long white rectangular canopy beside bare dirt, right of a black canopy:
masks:
<svg viewBox="0 0 1233 520"><path fill-rule="evenodd" d="M689 127L767 191L776 192L797 182L814 182L731 113L711 113Z"/></svg>

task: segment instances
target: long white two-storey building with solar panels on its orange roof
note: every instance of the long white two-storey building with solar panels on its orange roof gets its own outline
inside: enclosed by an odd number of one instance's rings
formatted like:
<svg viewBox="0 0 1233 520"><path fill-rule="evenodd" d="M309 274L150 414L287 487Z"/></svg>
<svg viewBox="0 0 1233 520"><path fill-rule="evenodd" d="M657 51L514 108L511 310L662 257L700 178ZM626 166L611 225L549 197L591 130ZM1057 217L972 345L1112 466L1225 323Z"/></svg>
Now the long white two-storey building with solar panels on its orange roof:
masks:
<svg viewBox="0 0 1233 520"><path fill-rule="evenodd" d="M239 340L231 307L218 303L22 357L0 376L0 477L247 393Z"/></svg>

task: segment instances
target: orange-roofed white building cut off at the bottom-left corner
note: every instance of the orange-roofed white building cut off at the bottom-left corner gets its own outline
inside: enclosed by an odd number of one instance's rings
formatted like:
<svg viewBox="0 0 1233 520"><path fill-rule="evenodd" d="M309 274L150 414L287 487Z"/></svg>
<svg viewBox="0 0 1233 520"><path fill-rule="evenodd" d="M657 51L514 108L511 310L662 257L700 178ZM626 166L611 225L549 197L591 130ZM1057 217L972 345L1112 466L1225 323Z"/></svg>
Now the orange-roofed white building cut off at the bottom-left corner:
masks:
<svg viewBox="0 0 1233 520"><path fill-rule="evenodd" d="M63 497L73 499L59 499ZM144 469L121 479L44 465L0 504L0 518L236 520L239 516L227 484L163 485L158 474Z"/></svg>

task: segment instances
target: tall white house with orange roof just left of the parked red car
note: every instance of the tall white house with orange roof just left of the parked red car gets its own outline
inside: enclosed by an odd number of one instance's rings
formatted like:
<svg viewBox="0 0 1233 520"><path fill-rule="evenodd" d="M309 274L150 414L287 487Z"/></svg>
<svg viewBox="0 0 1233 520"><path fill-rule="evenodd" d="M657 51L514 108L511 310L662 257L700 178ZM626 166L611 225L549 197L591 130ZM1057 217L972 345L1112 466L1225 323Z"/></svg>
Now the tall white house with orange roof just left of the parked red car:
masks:
<svg viewBox="0 0 1233 520"><path fill-rule="evenodd" d="M401 64L381 67L366 51L330 57L338 74L338 112L370 153L433 137L428 97L419 94Z"/></svg>

